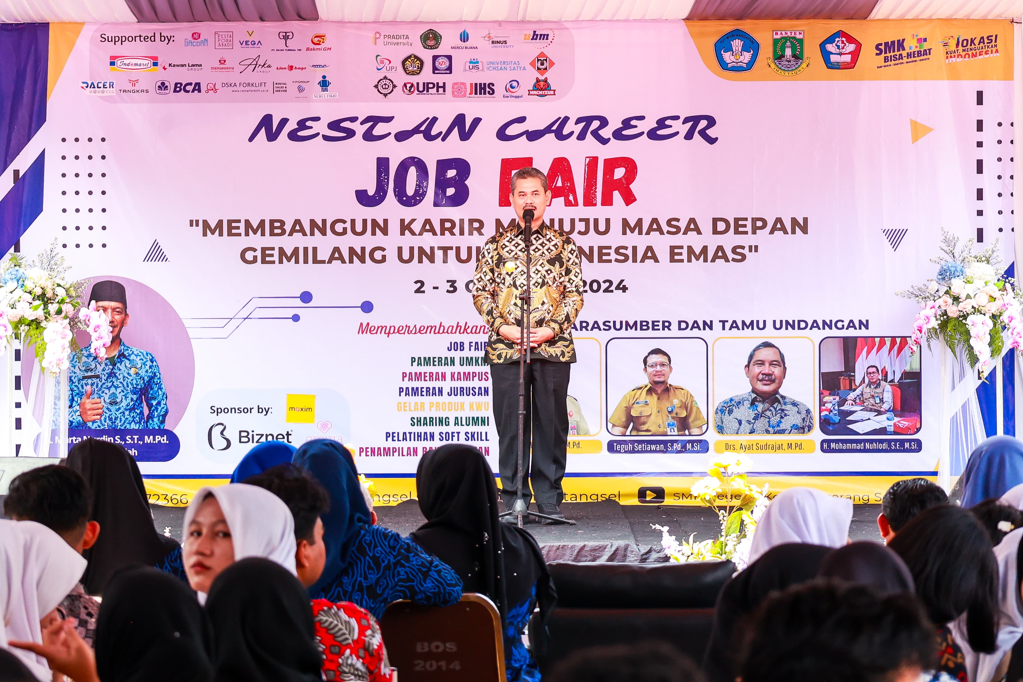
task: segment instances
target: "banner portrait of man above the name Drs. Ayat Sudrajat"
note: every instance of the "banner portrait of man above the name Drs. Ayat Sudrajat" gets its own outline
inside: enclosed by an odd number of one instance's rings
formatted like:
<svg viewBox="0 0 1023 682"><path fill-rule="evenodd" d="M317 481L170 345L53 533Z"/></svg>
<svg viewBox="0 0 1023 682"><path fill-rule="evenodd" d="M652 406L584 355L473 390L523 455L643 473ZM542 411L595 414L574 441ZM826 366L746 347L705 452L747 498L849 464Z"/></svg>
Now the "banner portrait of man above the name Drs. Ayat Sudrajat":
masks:
<svg viewBox="0 0 1023 682"><path fill-rule="evenodd" d="M714 428L722 436L809 434L813 413L803 403L782 395L785 354L770 342L757 344L746 360L750 392L722 400L714 409Z"/></svg>

